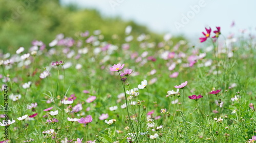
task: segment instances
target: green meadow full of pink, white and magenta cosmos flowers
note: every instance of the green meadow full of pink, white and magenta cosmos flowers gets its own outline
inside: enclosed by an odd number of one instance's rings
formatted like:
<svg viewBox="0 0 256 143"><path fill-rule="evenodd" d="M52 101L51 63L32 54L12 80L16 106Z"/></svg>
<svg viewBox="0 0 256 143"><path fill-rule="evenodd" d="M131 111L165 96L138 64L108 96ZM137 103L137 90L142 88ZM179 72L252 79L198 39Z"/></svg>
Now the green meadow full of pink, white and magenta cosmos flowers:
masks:
<svg viewBox="0 0 256 143"><path fill-rule="evenodd" d="M0 142L256 142L253 36L132 28L0 53Z"/></svg>

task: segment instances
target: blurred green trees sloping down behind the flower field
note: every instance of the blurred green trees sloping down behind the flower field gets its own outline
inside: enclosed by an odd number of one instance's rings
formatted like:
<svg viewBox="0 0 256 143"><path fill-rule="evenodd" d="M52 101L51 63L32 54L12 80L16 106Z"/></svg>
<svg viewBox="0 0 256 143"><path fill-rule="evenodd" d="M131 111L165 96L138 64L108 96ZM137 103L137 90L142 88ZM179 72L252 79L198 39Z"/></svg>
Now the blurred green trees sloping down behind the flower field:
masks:
<svg viewBox="0 0 256 143"><path fill-rule="evenodd" d="M123 21L119 17L102 17L96 10L81 10L75 6L63 7L58 0L1 0L0 1L0 49L16 50L20 46L31 46L32 40L48 45L57 34L76 38L80 32L101 30L104 40L112 43L113 34L119 42L126 37L124 29L133 27L132 35L145 33L154 36L154 41L162 40L145 26L133 21ZM121 40L121 41L120 41Z"/></svg>

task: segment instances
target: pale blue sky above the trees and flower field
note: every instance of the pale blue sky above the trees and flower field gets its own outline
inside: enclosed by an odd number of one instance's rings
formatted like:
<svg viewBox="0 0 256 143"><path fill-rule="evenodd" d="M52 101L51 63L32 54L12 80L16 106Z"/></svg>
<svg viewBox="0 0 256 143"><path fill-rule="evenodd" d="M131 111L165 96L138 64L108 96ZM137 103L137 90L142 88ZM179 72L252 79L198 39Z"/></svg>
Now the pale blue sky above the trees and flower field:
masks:
<svg viewBox="0 0 256 143"><path fill-rule="evenodd" d="M239 31L244 29L247 35L256 32L254 0L61 0L62 5L70 3L97 9L103 16L134 20L159 34L202 37L204 27L209 26L212 30L221 26L225 37L231 33L241 34ZM233 21L235 24L231 27Z"/></svg>

